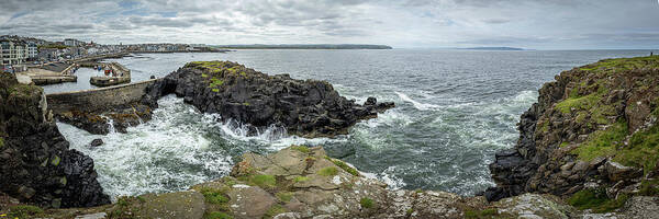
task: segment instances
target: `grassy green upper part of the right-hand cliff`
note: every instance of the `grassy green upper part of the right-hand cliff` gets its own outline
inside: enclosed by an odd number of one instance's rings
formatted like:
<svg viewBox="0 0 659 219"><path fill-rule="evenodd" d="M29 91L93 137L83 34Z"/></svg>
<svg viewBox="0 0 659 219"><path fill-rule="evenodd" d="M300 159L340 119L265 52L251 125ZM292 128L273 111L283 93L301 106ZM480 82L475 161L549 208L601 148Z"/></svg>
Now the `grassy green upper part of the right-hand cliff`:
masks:
<svg viewBox="0 0 659 219"><path fill-rule="evenodd" d="M555 108L595 131L572 153L585 161L608 157L646 173L655 171L659 161L658 69L659 56L652 56L606 59L573 70L577 77Z"/></svg>

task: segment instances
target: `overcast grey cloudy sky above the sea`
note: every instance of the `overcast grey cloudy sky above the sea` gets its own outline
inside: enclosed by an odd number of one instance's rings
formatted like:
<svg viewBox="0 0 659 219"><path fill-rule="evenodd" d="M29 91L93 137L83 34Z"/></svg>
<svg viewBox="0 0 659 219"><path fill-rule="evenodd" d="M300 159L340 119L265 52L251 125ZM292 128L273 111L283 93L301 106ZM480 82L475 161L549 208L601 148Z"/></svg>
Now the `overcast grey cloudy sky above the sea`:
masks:
<svg viewBox="0 0 659 219"><path fill-rule="evenodd" d="M658 0L0 0L0 35L101 44L659 48Z"/></svg>

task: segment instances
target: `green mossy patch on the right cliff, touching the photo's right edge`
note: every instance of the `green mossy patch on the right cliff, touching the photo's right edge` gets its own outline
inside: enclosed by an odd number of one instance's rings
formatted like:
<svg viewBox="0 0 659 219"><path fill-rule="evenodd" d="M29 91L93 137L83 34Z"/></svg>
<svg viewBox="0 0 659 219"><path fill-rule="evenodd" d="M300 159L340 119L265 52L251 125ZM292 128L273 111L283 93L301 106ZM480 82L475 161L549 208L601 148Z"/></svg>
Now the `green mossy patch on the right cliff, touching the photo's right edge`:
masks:
<svg viewBox="0 0 659 219"><path fill-rule="evenodd" d="M645 173L657 169L659 161L659 126L636 131L629 138L629 145L625 146L614 157L614 161L624 165L641 168Z"/></svg>

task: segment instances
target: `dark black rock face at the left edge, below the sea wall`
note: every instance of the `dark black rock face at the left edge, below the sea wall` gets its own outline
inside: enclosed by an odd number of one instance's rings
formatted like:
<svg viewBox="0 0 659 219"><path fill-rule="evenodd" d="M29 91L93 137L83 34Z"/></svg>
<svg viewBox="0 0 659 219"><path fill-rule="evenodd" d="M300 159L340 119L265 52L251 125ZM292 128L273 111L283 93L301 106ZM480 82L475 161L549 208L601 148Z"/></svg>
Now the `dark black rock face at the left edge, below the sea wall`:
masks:
<svg viewBox="0 0 659 219"><path fill-rule="evenodd" d="M109 204L93 160L59 134L43 89L0 73L0 192L44 207Z"/></svg>

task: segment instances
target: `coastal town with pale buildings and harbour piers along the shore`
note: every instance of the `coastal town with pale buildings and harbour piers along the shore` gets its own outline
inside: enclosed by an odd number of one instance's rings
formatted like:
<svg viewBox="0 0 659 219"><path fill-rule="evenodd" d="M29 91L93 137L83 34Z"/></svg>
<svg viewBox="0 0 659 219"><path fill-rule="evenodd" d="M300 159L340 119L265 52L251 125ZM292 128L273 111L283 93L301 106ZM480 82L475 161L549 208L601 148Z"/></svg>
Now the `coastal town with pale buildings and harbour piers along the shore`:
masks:
<svg viewBox="0 0 659 219"><path fill-rule="evenodd" d="M14 73L19 80L35 84L77 82L79 68L102 71L90 84L109 87L131 82L130 70L118 62L102 59L121 58L141 53L225 53L201 44L134 44L103 45L93 41L64 38L49 42L34 37L0 36L1 71Z"/></svg>

